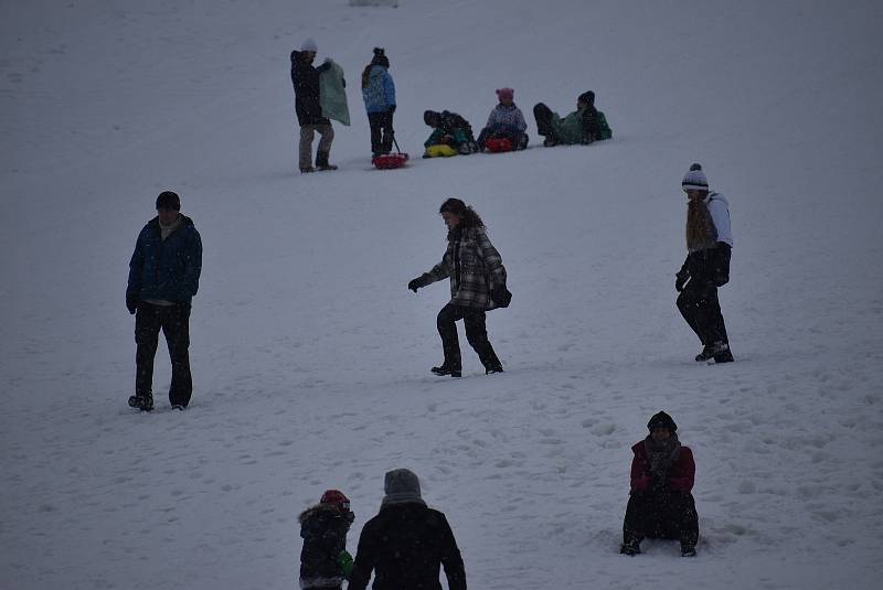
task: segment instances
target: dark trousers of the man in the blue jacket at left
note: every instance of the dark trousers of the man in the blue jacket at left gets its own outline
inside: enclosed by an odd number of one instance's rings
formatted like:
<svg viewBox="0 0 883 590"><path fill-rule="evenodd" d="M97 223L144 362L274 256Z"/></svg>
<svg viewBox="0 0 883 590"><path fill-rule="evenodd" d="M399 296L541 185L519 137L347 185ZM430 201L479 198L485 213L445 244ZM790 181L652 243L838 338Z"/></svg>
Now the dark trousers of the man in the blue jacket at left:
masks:
<svg viewBox="0 0 883 590"><path fill-rule="evenodd" d="M169 388L169 403L172 406L187 406L193 393L190 375L190 303L155 305L141 301L135 315L135 394L152 395L153 357L157 354L159 331L169 345L172 364L172 384Z"/></svg>

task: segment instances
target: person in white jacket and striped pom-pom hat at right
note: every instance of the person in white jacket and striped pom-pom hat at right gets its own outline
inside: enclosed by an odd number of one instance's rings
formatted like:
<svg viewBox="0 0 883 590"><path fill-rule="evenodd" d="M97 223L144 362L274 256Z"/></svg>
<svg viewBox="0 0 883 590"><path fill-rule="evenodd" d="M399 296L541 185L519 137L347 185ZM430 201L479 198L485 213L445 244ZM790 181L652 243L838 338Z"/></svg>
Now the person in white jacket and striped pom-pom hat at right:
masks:
<svg viewBox="0 0 883 590"><path fill-rule="evenodd" d="M733 234L730 203L721 193L709 191L700 164L690 167L681 187L689 200L687 211L687 260L675 275L678 309L702 342L698 362L732 363L717 288L730 282Z"/></svg>

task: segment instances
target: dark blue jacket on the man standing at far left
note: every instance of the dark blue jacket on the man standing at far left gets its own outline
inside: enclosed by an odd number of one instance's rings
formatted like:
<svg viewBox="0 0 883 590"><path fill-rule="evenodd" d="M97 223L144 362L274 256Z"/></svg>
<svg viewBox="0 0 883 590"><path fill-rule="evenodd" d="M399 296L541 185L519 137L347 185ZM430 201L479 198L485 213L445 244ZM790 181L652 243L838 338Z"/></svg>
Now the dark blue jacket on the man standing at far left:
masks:
<svg viewBox="0 0 883 590"><path fill-rule="evenodd" d="M162 239L159 216L138 234L129 261L126 298L189 303L200 287L202 239L193 221L181 215L181 226Z"/></svg>

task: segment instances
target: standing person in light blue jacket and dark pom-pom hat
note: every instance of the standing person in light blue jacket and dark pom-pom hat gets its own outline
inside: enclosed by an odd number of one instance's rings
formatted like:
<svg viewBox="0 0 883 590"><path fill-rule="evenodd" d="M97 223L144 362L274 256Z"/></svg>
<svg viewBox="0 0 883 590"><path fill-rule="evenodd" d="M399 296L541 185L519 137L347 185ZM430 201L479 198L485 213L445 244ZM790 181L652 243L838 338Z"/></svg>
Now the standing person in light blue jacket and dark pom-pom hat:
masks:
<svg viewBox="0 0 883 590"><path fill-rule="evenodd" d="M371 127L371 153L374 158L393 149L393 112L395 83L390 75L390 58L382 47L374 47L374 57L362 72L362 98Z"/></svg>

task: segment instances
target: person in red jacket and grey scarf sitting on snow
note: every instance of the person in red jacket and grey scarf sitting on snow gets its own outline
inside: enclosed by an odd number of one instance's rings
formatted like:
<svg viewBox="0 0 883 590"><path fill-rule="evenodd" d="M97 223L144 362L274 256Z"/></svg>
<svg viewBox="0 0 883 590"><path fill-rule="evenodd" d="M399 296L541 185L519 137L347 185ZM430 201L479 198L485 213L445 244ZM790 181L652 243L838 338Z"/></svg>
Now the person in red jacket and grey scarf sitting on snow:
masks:
<svg viewBox="0 0 883 590"><path fill-rule="evenodd" d="M624 555L641 553L645 537L681 541L681 555L695 557L699 516L690 491L693 452L678 440L678 425L660 411L647 422L650 433L631 447L631 491L623 524Z"/></svg>

